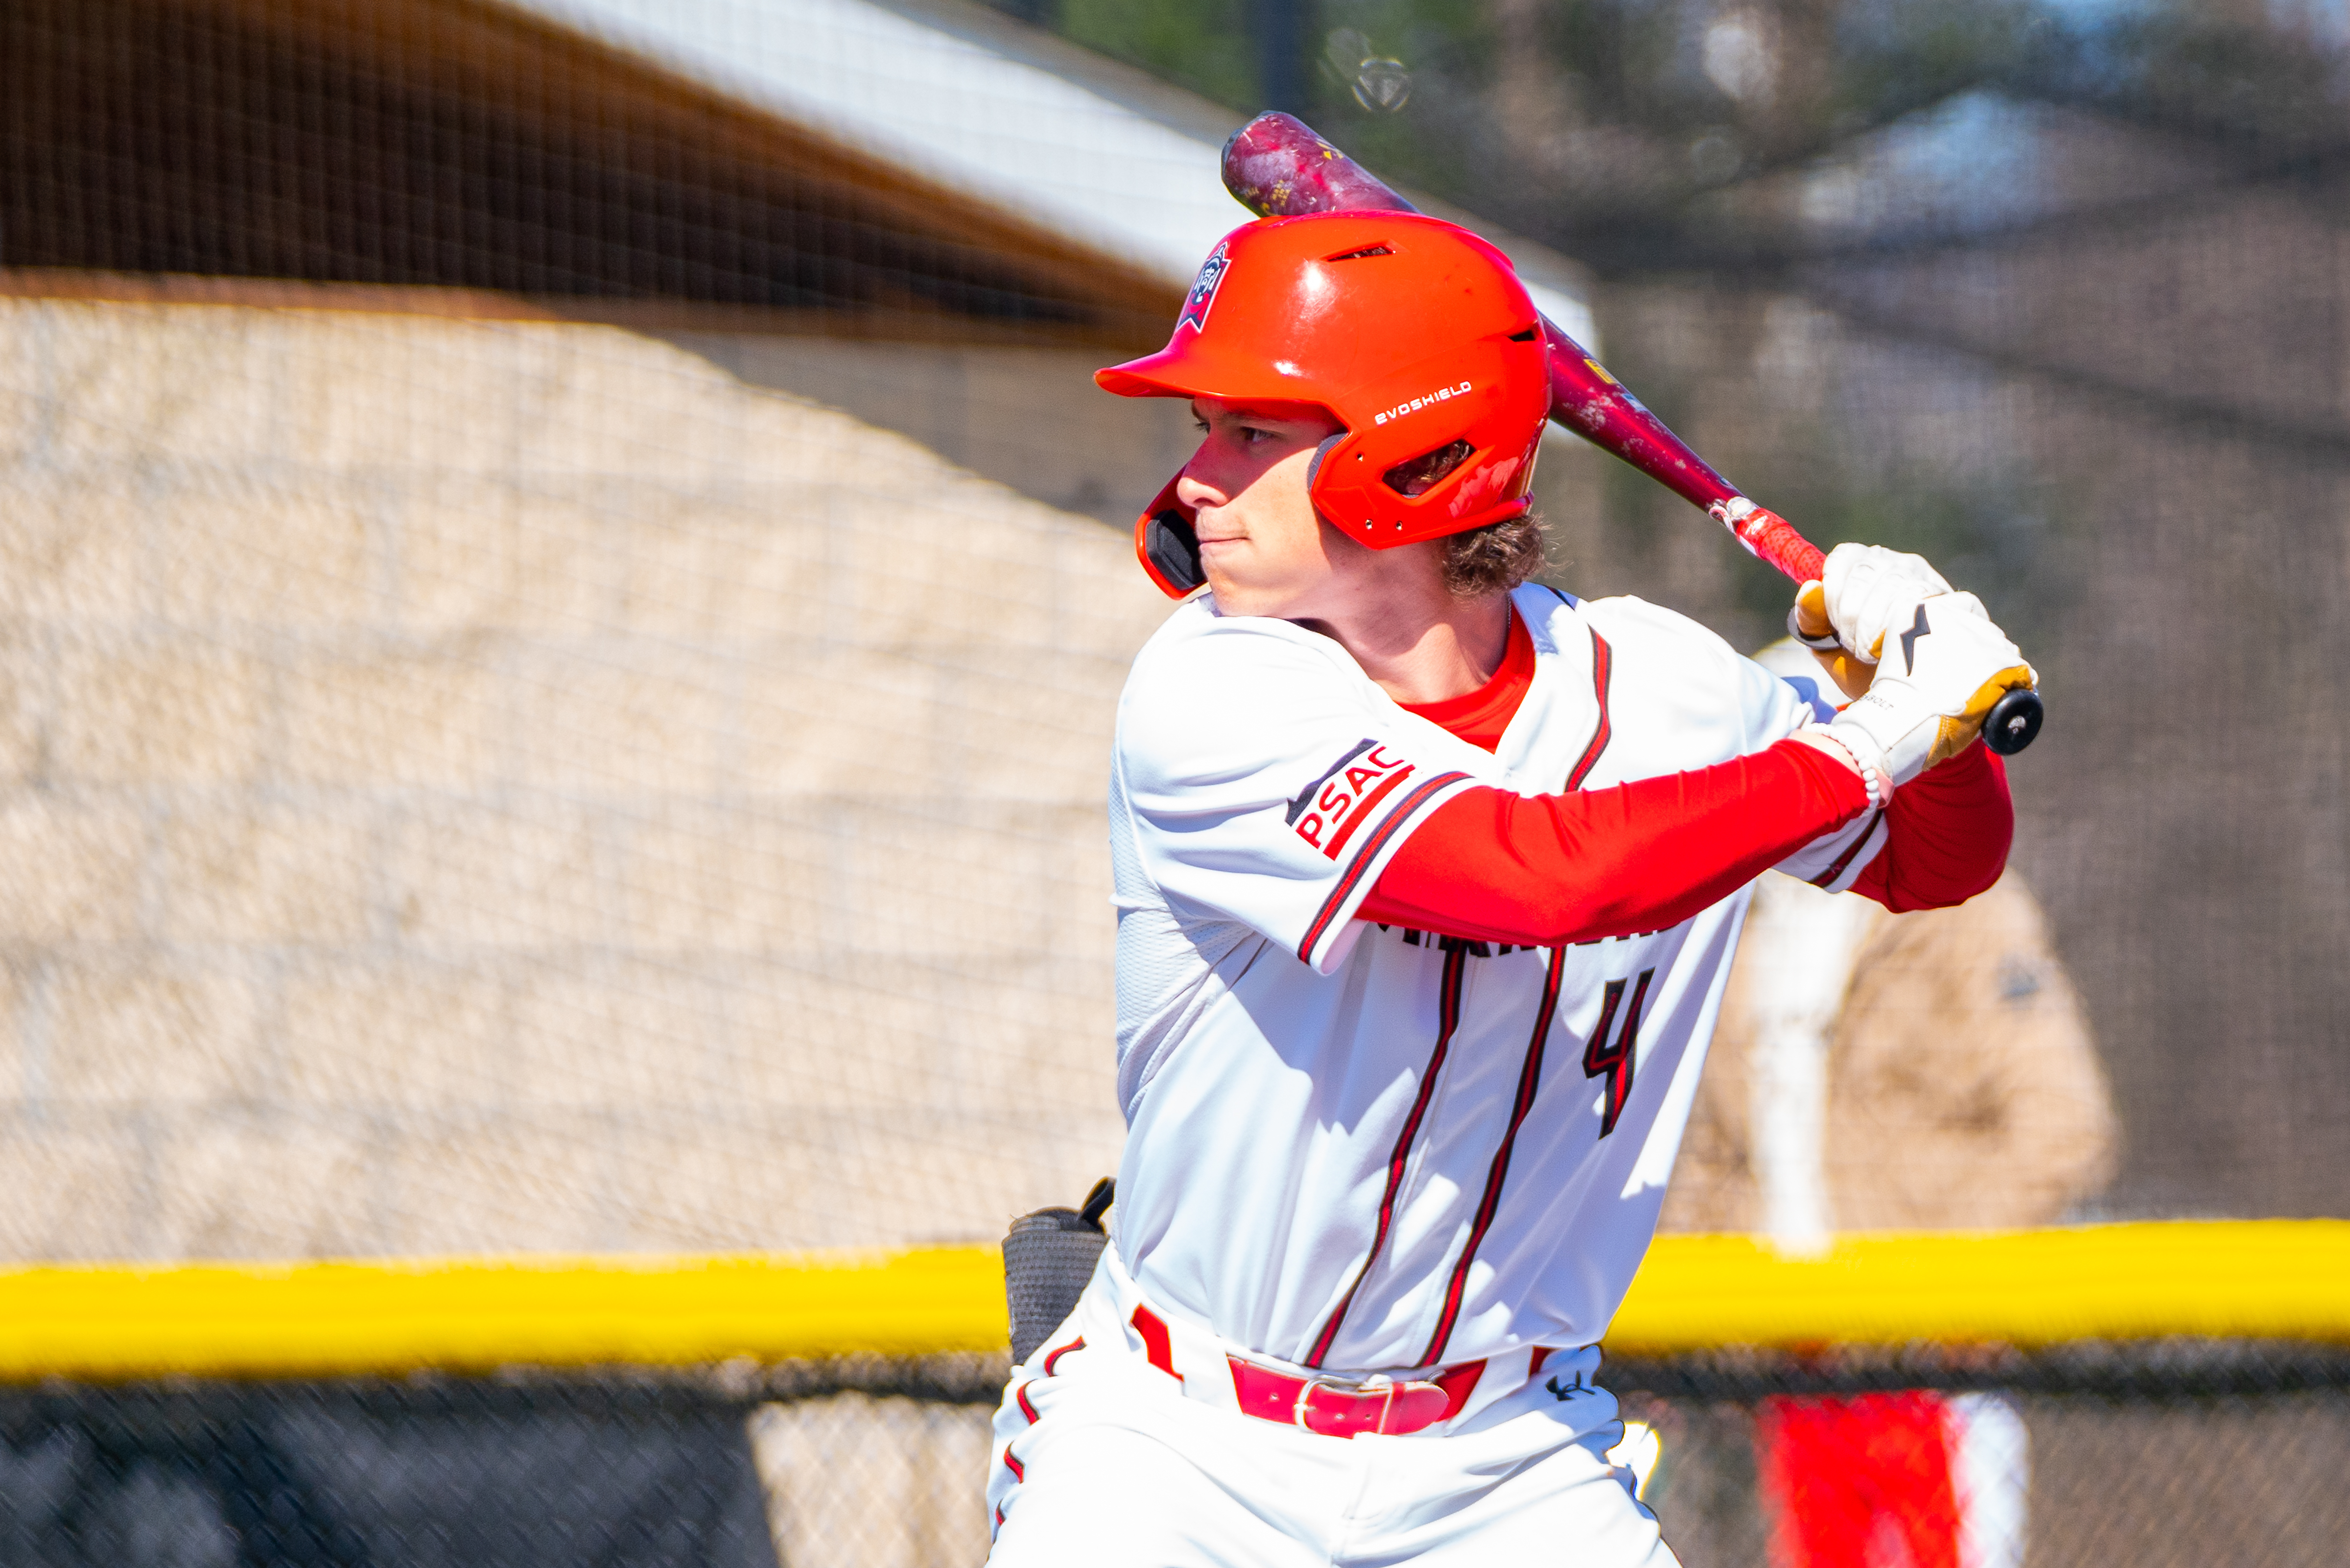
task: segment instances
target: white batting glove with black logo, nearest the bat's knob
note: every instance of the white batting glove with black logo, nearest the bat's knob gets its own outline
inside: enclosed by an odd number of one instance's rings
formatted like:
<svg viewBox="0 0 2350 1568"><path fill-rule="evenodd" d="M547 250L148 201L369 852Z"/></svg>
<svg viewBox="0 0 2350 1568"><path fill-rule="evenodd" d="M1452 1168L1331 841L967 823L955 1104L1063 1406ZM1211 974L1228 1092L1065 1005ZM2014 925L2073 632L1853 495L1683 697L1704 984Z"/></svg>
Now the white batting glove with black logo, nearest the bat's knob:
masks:
<svg viewBox="0 0 2350 1568"><path fill-rule="evenodd" d="M1828 733L1864 769L1878 766L1904 785L1967 750L2009 686L2037 684L1981 599L1939 592L1911 599L1908 618L1887 628L1868 696L1838 712Z"/></svg>

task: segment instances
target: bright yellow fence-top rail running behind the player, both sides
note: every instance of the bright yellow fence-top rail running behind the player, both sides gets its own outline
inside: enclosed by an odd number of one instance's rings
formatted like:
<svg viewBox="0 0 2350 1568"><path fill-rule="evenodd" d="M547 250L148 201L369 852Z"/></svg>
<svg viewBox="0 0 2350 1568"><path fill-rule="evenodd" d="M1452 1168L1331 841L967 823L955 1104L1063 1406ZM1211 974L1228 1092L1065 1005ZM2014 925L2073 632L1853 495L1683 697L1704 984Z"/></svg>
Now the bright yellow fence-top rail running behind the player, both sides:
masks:
<svg viewBox="0 0 2350 1568"><path fill-rule="evenodd" d="M2350 1340L2350 1222L1661 1237L1612 1352L2082 1338ZM0 1380L315 1378L1001 1349L992 1246L0 1269Z"/></svg>

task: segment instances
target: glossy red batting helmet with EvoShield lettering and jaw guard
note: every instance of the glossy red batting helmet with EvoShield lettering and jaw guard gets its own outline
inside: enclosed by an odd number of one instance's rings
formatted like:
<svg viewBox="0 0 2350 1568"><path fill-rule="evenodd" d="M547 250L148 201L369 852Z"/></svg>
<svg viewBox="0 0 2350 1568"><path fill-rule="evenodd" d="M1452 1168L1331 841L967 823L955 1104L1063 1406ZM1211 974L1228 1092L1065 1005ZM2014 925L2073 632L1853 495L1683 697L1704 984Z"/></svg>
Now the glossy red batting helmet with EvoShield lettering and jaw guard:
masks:
<svg viewBox="0 0 2350 1568"><path fill-rule="evenodd" d="M1542 317L1509 259L1401 212L1243 223L1208 254L1168 346L1095 381L1328 409L1344 430L1307 491L1375 550L1523 515L1551 404ZM1206 581L1175 480L1135 522L1135 555L1170 597Z"/></svg>

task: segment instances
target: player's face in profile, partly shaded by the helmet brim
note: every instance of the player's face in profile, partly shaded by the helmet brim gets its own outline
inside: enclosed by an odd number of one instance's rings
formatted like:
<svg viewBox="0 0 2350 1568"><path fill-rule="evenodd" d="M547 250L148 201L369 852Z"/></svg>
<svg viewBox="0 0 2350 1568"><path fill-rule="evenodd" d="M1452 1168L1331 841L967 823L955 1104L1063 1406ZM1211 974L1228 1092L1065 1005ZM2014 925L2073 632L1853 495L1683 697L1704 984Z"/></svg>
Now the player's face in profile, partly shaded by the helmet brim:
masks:
<svg viewBox="0 0 2350 1568"><path fill-rule="evenodd" d="M1194 397L1201 444L1175 482L1196 512L1198 559L1227 616L1307 621L1370 567L1368 550L1323 524L1307 498L1314 449L1344 425L1302 404Z"/></svg>

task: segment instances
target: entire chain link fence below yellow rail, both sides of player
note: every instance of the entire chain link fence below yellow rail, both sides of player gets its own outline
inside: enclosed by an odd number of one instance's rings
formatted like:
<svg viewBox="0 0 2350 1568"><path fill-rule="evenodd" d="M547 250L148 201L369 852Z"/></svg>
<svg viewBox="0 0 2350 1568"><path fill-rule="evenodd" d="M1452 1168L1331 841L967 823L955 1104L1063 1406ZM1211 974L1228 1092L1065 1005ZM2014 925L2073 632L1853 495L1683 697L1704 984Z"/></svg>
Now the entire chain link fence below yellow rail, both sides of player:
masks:
<svg viewBox="0 0 2350 1568"><path fill-rule="evenodd" d="M0 1396L0 1563L949 1568L1001 1356ZM2256 1340L1610 1361L1687 1568L2326 1568L2350 1354Z"/></svg>

